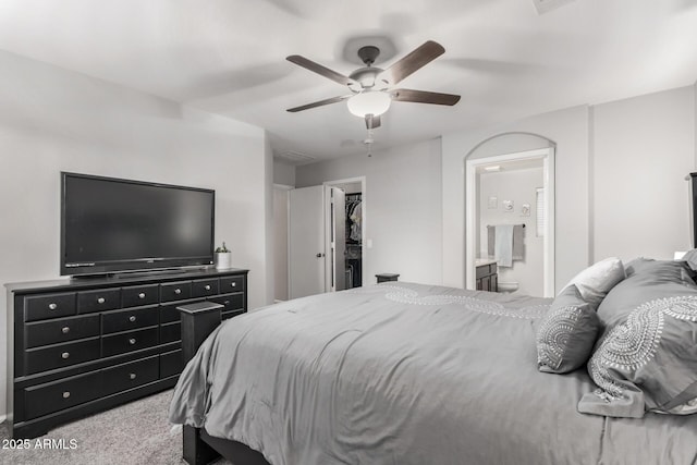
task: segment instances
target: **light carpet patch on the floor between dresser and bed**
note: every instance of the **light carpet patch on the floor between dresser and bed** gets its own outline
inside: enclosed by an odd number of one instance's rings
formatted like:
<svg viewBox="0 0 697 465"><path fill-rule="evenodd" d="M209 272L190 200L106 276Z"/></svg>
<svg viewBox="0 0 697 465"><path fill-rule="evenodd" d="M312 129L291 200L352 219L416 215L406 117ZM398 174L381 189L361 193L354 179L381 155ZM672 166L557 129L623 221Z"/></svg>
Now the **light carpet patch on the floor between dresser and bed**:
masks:
<svg viewBox="0 0 697 465"><path fill-rule="evenodd" d="M49 431L25 450L4 449L8 428L0 425L0 464L12 465L182 465L181 429L167 413L172 391L150 395ZM66 449L41 449L52 442ZM40 441L37 443L37 440ZM71 448L71 440L75 445ZM218 462L220 465L229 462Z"/></svg>

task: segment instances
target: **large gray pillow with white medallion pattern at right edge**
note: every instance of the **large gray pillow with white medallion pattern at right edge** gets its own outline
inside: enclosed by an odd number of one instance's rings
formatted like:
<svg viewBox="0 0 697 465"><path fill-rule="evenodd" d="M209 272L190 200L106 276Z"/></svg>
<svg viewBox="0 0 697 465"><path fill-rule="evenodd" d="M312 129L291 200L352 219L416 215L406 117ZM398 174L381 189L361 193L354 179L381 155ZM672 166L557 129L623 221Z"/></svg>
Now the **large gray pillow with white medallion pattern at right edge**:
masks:
<svg viewBox="0 0 697 465"><path fill-rule="evenodd" d="M598 308L603 333L588 372L599 389L583 396L582 413L694 412L676 407L697 397L697 286L684 262L637 265Z"/></svg>

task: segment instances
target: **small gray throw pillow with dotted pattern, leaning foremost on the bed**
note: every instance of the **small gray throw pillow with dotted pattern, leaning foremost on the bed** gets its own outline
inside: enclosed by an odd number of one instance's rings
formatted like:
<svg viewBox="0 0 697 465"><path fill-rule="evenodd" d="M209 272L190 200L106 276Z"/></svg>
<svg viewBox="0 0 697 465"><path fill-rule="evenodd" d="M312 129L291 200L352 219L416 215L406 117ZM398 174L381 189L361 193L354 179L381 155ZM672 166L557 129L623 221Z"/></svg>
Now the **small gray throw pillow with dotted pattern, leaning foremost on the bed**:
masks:
<svg viewBox="0 0 697 465"><path fill-rule="evenodd" d="M537 331L537 367L564 374L588 362L600 323L595 309L572 284L552 303Z"/></svg>

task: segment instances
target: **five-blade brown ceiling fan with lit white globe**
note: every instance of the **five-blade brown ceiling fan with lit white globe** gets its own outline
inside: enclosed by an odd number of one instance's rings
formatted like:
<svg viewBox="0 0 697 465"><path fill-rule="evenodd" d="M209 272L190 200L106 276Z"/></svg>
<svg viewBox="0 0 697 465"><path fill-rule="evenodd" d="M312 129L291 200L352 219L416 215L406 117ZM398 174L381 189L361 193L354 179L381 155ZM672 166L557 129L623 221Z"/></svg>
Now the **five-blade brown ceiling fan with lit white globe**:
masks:
<svg viewBox="0 0 697 465"><path fill-rule="evenodd" d="M380 54L380 49L375 46L366 46L358 49L358 58L365 63L365 66L357 69L348 76L299 54L292 54L286 57L288 61L348 87L351 94L289 108L288 111L294 113L347 100L348 111L365 119L366 127L372 130L380 125L380 115L390 108L392 101L453 106L460 101L458 95L392 87L444 52L445 49L440 44L428 40L387 70L382 70L372 65Z"/></svg>

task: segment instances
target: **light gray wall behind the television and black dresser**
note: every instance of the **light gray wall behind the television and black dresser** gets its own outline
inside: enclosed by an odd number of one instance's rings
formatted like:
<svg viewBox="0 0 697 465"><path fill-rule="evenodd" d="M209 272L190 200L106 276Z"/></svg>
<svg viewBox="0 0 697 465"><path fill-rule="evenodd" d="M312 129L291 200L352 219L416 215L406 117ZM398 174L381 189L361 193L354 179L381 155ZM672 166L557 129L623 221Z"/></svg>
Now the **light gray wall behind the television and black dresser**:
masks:
<svg viewBox="0 0 697 465"><path fill-rule="evenodd" d="M59 277L59 173L74 171L215 188L216 241L250 270L250 307L269 302L264 130L7 52L0 69L0 283ZM2 343L2 367L5 355ZM2 368L0 399L5 378Z"/></svg>

